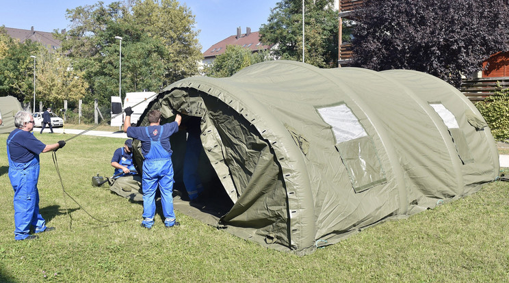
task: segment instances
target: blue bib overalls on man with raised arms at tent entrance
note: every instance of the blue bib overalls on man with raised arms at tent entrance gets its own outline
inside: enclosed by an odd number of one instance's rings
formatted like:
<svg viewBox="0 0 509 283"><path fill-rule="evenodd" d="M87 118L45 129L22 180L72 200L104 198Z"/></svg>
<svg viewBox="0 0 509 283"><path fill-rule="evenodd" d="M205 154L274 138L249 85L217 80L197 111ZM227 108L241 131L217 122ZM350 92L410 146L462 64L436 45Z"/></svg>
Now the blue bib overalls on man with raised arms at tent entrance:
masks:
<svg viewBox="0 0 509 283"><path fill-rule="evenodd" d="M151 228L155 216L155 191L157 185L161 191L161 205L163 215L166 217L164 224L171 227L175 224L173 211L173 165L171 155L161 145L160 137L164 127L161 126L159 135L153 139L145 128L146 135L151 139L151 150L145 155L143 162L143 218L142 224Z"/></svg>

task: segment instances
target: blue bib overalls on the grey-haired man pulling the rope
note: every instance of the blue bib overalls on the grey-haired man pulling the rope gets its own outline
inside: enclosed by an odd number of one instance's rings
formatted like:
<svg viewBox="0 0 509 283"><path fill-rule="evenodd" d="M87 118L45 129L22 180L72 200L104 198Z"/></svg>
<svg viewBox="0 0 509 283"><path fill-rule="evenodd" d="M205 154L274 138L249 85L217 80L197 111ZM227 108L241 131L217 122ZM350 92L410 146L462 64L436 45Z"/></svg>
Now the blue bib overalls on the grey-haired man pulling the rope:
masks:
<svg viewBox="0 0 509 283"><path fill-rule="evenodd" d="M14 189L14 239L24 240L29 236L30 226L35 232L46 230L46 221L39 214L39 157L27 163L17 163L10 158L9 144L19 133L16 132L7 141L7 156L9 159L9 179Z"/></svg>

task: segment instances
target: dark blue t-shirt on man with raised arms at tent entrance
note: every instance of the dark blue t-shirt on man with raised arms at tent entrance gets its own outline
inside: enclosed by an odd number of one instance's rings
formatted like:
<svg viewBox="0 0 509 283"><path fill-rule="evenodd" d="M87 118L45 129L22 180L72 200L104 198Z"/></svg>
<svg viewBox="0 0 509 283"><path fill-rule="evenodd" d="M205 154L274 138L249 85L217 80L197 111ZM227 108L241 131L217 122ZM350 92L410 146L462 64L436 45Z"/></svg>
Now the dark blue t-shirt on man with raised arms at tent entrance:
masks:
<svg viewBox="0 0 509 283"><path fill-rule="evenodd" d="M179 124L174 121L167 124L164 124L164 133L160 137L159 141L161 142L161 146L163 146L164 150L166 150L170 155L172 155L172 148L170 146L170 136L179 131ZM145 128L148 128L147 137ZM135 139L140 140L142 142L142 154L145 156L149 151L151 151L151 139L156 137L161 133L161 126L130 126L127 128L127 137L133 137Z"/></svg>

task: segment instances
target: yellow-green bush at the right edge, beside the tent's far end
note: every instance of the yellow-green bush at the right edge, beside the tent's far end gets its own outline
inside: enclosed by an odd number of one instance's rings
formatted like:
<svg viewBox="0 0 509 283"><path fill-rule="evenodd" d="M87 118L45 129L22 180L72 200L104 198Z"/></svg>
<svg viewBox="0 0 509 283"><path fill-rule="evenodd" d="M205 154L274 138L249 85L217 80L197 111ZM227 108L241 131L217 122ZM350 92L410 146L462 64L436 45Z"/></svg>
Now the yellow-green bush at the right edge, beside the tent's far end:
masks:
<svg viewBox="0 0 509 283"><path fill-rule="evenodd" d="M509 139L509 89L498 90L484 101L475 103L498 141Z"/></svg>

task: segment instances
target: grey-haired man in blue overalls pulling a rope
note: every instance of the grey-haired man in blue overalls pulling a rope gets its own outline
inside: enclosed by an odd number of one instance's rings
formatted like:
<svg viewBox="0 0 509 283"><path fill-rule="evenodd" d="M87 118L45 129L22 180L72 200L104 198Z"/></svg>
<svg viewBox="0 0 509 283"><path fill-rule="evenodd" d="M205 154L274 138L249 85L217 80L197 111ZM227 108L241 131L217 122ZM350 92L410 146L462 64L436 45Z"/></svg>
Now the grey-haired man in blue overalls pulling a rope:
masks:
<svg viewBox="0 0 509 283"><path fill-rule="evenodd" d="M62 148L66 142L42 144L30 133L34 129L34 118L27 111L16 113L14 126L17 129L7 138L9 179L14 189L14 239L37 239L36 235L29 234L30 226L34 226L35 233L55 230L54 227L47 227L39 214L39 154Z"/></svg>

